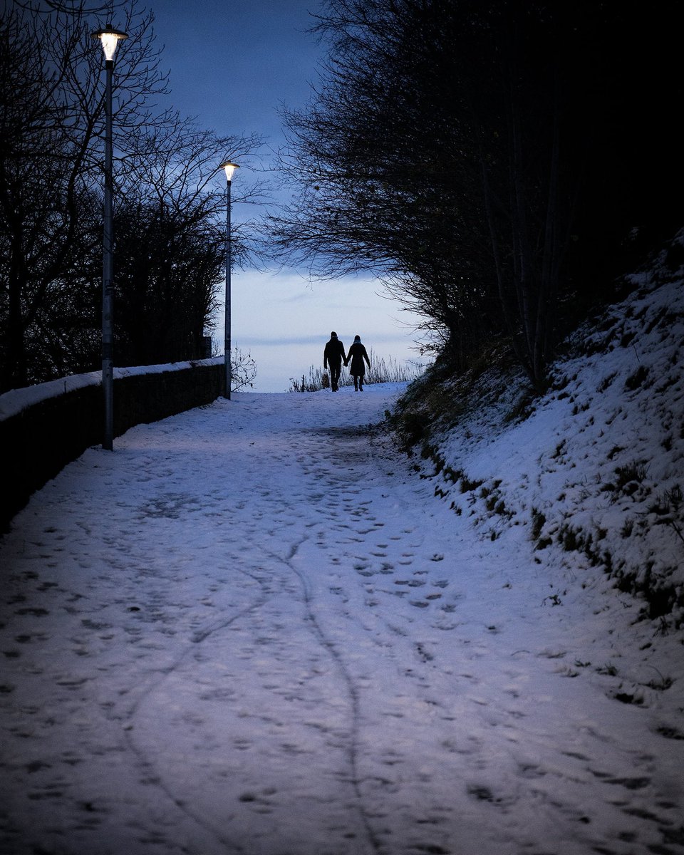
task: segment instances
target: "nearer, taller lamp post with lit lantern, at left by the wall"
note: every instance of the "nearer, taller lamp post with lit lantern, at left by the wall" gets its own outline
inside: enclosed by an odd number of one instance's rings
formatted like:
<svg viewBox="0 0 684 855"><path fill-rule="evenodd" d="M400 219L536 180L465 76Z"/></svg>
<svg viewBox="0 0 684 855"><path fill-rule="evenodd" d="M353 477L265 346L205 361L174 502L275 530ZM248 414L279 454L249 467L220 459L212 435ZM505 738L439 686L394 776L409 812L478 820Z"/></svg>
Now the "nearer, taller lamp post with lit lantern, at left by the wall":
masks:
<svg viewBox="0 0 684 855"><path fill-rule="evenodd" d="M104 394L104 437L102 447L112 451L114 445L114 281L112 265L112 73L116 47L125 32L111 24L92 33L99 38L104 51L104 68L107 72L107 89L104 99L104 207L103 207L103 267L102 267L102 387Z"/></svg>

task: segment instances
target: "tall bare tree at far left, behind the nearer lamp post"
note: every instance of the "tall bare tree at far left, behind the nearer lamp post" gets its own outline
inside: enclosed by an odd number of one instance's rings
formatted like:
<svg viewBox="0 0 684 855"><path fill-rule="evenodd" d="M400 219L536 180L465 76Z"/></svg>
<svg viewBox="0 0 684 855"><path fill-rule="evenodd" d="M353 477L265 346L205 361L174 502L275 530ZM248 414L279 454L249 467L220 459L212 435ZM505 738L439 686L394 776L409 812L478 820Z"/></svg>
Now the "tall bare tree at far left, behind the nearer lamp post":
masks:
<svg viewBox="0 0 684 855"><path fill-rule="evenodd" d="M91 26L82 9L44 15L15 7L0 19L3 388L50 374L46 353L29 353L27 344L50 338L42 326L49 307L63 303L72 283L80 286L74 270L97 243L103 87ZM121 128L164 121L144 103L165 86L150 15L129 5L127 27L131 48L116 75Z"/></svg>

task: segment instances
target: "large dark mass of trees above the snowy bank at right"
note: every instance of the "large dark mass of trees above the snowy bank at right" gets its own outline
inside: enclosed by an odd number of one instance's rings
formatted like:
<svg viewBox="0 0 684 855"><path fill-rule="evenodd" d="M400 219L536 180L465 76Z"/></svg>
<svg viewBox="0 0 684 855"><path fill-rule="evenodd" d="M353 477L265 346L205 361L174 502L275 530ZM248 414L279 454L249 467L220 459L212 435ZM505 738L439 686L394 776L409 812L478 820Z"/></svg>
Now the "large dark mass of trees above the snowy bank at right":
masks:
<svg viewBox="0 0 684 855"><path fill-rule="evenodd" d="M674 3L328 0L283 257L373 270L457 366L557 336L681 227Z"/></svg>

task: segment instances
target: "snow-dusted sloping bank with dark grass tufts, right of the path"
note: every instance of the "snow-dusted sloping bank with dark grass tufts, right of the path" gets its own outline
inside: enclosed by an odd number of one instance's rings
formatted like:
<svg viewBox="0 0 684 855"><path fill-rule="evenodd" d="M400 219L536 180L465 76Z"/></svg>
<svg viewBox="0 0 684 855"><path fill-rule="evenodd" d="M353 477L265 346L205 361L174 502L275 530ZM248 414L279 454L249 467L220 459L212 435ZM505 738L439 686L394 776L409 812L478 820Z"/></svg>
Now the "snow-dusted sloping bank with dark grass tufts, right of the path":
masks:
<svg viewBox="0 0 684 855"><path fill-rule="evenodd" d="M484 537L526 526L536 563L598 569L666 632L684 621L684 282L663 265L634 283L575 333L545 396L490 394L433 429L429 456L436 494Z"/></svg>

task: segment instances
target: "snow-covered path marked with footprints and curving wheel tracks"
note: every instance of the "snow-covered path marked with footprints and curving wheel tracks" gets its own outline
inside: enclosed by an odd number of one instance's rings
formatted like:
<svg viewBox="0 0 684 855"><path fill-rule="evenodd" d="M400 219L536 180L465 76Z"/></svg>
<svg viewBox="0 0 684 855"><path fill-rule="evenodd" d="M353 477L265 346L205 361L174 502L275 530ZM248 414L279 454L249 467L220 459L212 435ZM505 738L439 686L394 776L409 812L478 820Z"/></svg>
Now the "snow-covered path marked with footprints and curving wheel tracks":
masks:
<svg viewBox="0 0 684 855"><path fill-rule="evenodd" d="M481 540L369 430L396 394L239 394L33 497L0 851L684 852L656 669L614 697L633 601Z"/></svg>

